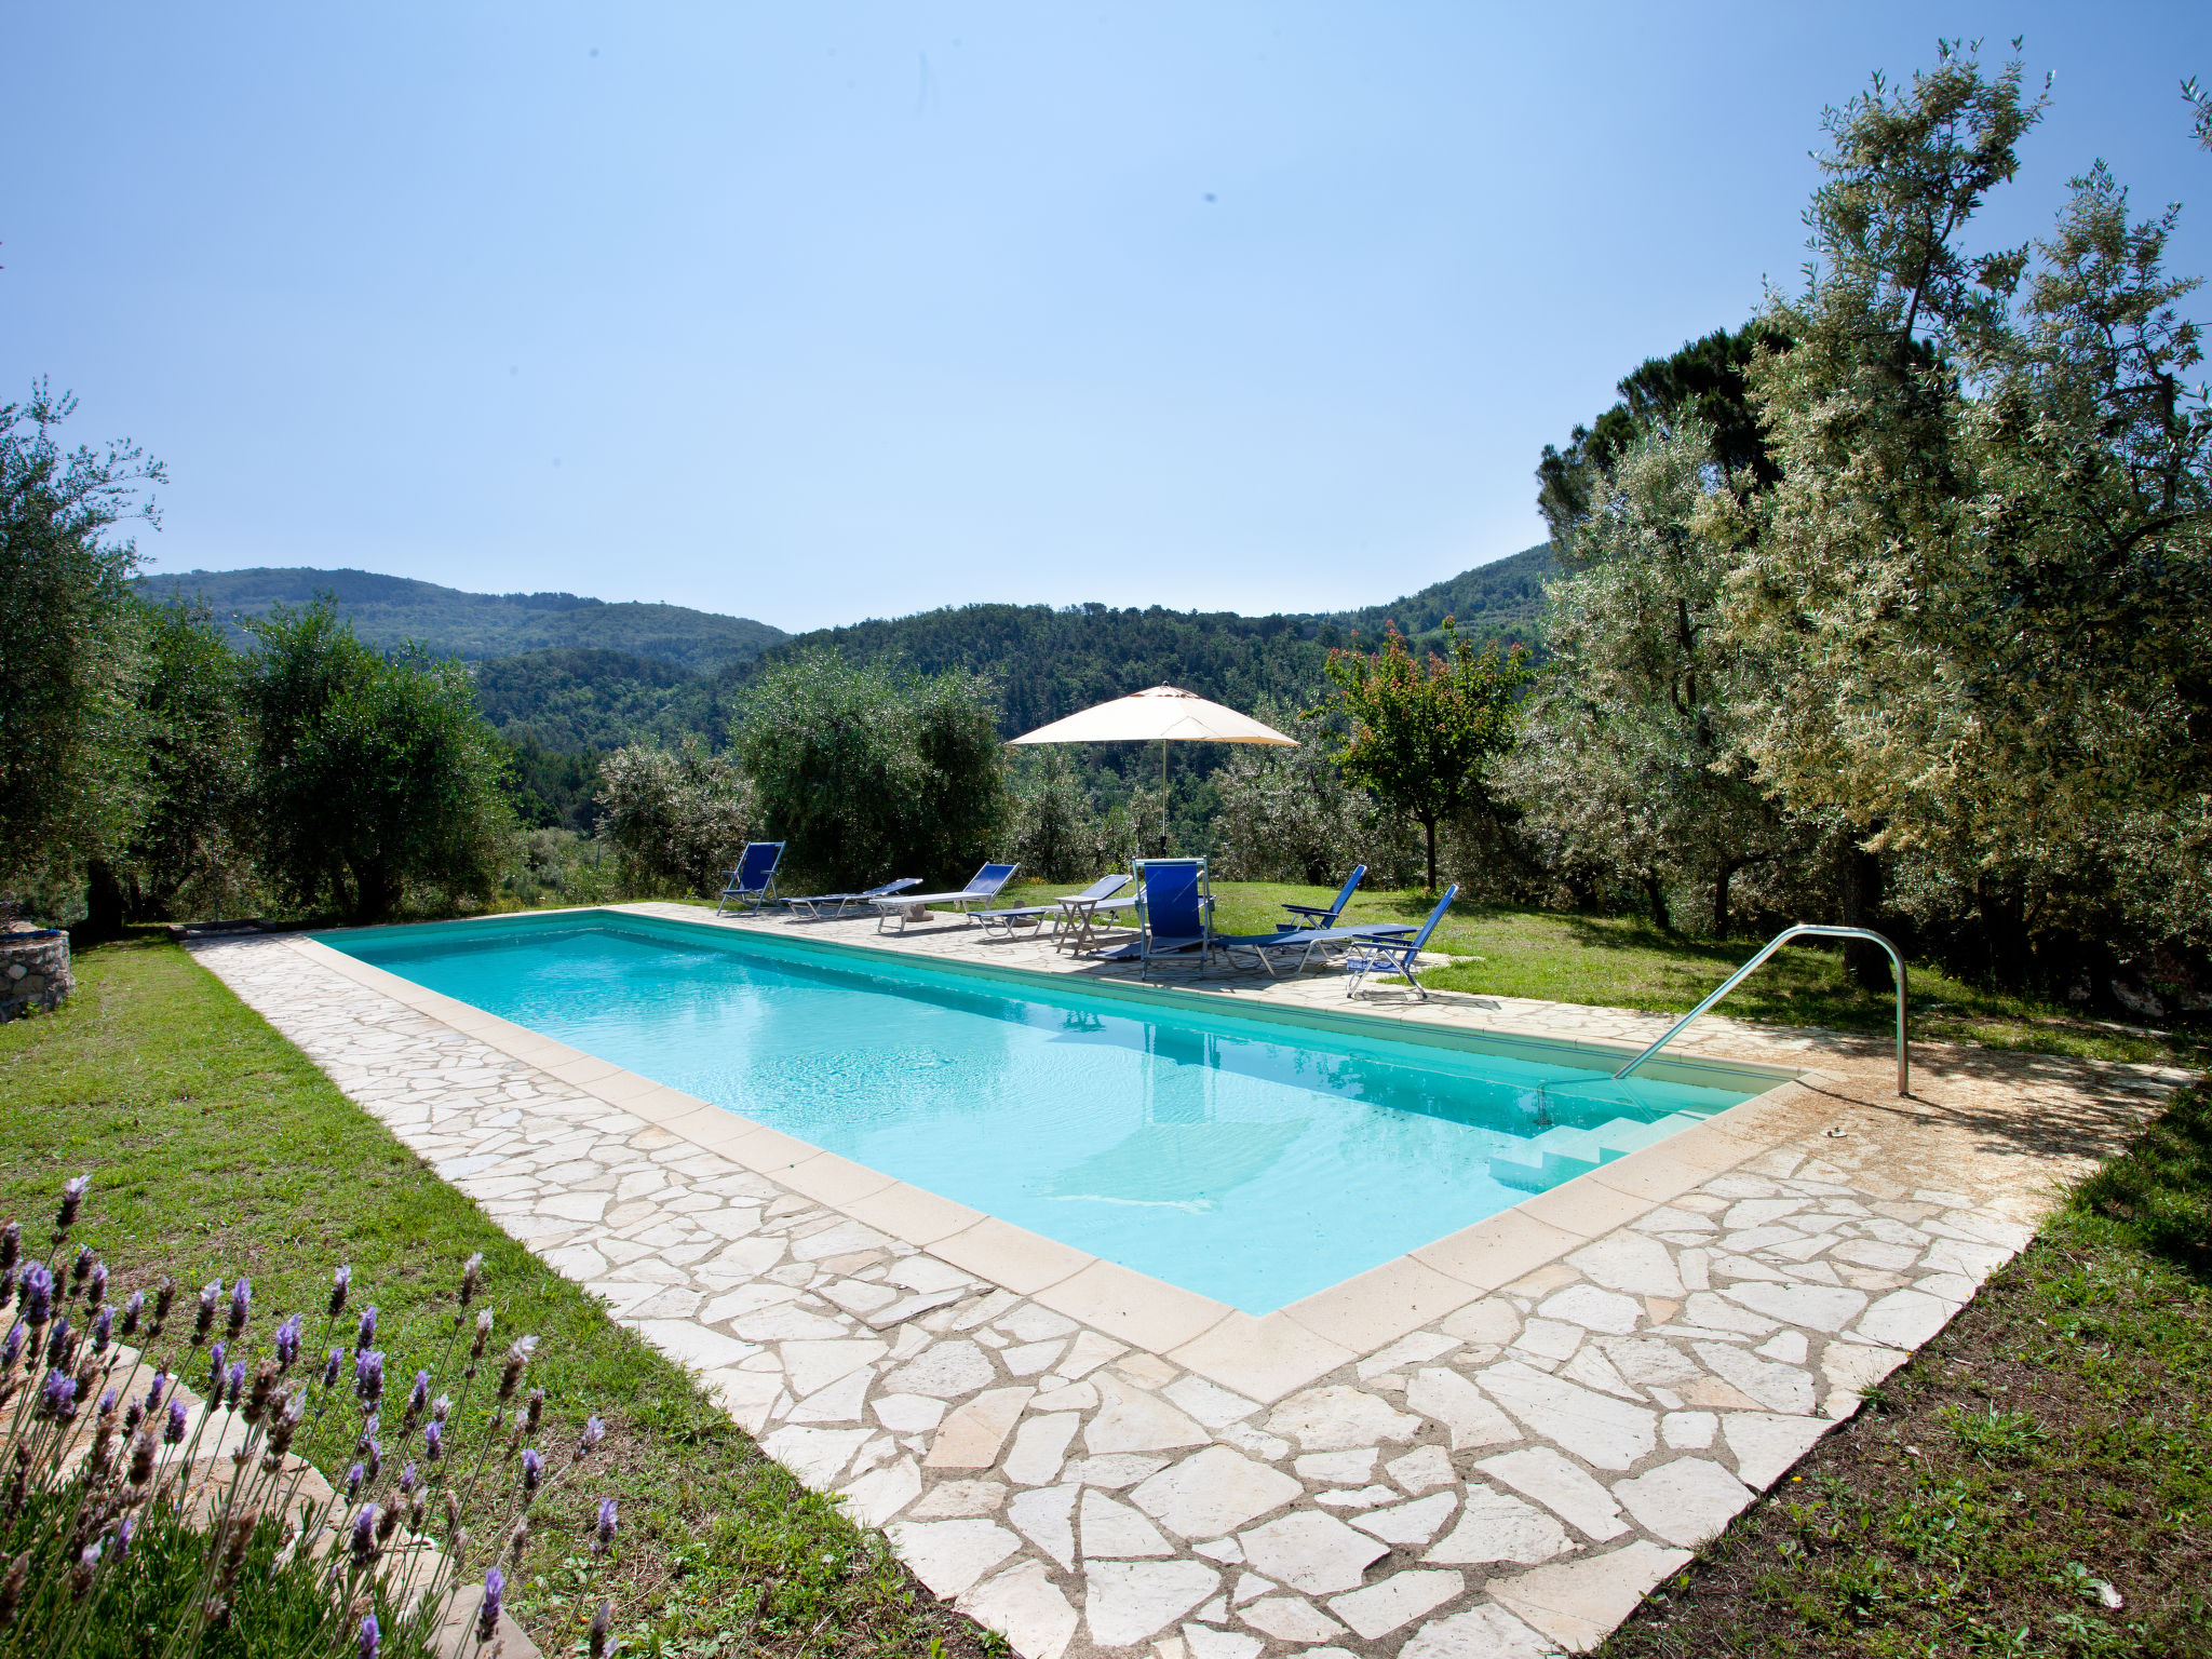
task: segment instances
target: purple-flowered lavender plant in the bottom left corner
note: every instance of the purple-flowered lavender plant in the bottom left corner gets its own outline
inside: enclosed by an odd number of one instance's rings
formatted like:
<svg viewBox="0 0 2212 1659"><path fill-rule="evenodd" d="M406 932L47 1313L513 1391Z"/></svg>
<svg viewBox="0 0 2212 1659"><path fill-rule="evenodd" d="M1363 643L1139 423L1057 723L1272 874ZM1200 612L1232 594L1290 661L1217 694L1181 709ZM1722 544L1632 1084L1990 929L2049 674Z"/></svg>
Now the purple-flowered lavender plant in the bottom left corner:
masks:
<svg viewBox="0 0 2212 1659"><path fill-rule="evenodd" d="M97 1252L71 1250L88 1188L64 1183L40 1256L0 1228L0 1659L495 1659L504 1575L604 1429L542 1449L538 1338L495 1347L482 1256L436 1363L398 1380L349 1267L314 1343L301 1312L257 1316L246 1276L188 1301L166 1276L117 1307ZM345 1436L336 1484L292 1451ZM595 1562L615 1517L604 1498ZM593 1659L611 1621L602 1604Z"/></svg>

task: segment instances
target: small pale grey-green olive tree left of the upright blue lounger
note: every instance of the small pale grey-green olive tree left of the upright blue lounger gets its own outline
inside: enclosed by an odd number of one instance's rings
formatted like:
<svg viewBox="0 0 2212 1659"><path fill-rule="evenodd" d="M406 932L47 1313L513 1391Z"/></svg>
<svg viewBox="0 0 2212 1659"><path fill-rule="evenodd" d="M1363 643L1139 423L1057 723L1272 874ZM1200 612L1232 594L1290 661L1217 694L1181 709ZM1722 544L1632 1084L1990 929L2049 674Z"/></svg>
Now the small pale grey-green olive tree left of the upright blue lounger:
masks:
<svg viewBox="0 0 2212 1659"><path fill-rule="evenodd" d="M697 739L604 757L597 803L599 836L630 889L717 891L761 825L759 794L737 761L708 754Z"/></svg>

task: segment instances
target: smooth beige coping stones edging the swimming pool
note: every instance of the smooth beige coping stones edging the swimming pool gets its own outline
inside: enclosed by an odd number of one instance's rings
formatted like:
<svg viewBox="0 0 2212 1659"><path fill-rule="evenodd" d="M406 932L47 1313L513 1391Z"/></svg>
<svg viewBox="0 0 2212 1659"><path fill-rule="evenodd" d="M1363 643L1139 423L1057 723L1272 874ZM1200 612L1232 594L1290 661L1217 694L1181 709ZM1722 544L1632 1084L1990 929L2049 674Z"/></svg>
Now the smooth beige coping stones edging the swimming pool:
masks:
<svg viewBox="0 0 2212 1659"><path fill-rule="evenodd" d="M644 916L677 927L726 931L726 927L717 929L712 920L670 916L668 909L659 905L580 905L560 911L471 918L460 925L480 927L509 920L542 920L546 916L606 914ZM425 922L418 927L429 931L456 925ZM407 927L405 931L411 933L416 929ZM471 1002L449 998L400 973L347 956L321 938L294 936L292 947L356 984L380 991L394 1002L440 1020L500 1053L538 1066L608 1106L622 1106L655 1128L681 1135L754 1175L765 1175L794 1192L834 1206L852 1219L916 1250L927 1250L964 1272L989 1279L1018 1296L1029 1296L1133 1347L1175 1360L1263 1405L1292 1394L1314 1378L1327 1376L1345 1363L1367 1358L1422 1325L1431 1325L1593 1243L1632 1214L1641 1214L1655 1203L1666 1203L1759 1157L1772 1146L1772 1137L1759 1135L1752 1128L1754 1119L1763 1117L1759 1108L1787 1108L1798 1099L1812 1097L1807 1084L1843 1082L1838 1073L1814 1066L1792 1068L1747 1060L1674 1060L1663 1066L1655 1064L1650 1071L1661 1079L1694 1082L1699 1077L1734 1075L1763 1077L1770 1086L1750 1099L1714 1113L1703 1124L1670 1135L1657 1146L1641 1148L1610 1164L1599 1164L1555 1188L1535 1192L1506 1210L1449 1232L1442 1239L1431 1239L1349 1279L1340 1279L1270 1314L1248 1314L1201 1292L1183 1290L1166 1279L1093 1256L1075 1245L900 1181L838 1152L759 1124L728 1106L717 1106L679 1088L657 1084L650 1077L615 1066L608 1060L573 1048L529 1026L487 1013ZM847 940L805 940L801 949L834 951L858 960L869 956L914 960L911 951ZM958 962L938 956L931 956L929 962L1002 984L1048 987L1057 978L1064 987L1066 978L1071 978L1066 973L1053 975L1000 962ZM1115 995L1135 1004L1150 1002L1159 1006L1166 1000L1170 1006L1221 1013L1219 993L1210 991L1099 978L1084 978L1082 984L1086 993ZM1451 1048L1498 1051L1517 1046L1615 1062L1635 1055L1635 1048L1601 1042L1471 1037L1469 1033L1418 1026L1374 1013L1332 1015L1314 1009L1239 1004L1237 1015Z"/></svg>

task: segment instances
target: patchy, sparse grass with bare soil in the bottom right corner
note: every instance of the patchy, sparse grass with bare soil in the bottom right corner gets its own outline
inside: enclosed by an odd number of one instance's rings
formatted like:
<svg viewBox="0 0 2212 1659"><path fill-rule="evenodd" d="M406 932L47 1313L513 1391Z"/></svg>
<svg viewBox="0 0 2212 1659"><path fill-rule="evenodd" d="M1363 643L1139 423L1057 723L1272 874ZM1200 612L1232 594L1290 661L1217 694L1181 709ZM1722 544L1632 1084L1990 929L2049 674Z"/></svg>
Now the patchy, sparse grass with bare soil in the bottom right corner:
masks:
<svg viewBox="0 0 2212 1659"><path fill-rule="evenodd" d="M2212 1652L2212 1088L1601 1659Z"/></svg>

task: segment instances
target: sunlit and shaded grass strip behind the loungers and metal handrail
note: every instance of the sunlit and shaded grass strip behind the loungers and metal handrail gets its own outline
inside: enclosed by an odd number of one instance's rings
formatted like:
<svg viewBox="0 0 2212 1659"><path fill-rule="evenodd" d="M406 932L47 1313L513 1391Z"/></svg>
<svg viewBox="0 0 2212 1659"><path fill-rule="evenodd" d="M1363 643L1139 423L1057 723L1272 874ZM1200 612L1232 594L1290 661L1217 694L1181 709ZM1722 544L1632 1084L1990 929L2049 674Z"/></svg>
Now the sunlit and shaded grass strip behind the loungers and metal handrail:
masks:
<svg viewBox="0 0 2212 1659"><path fill-rule="evenodd" d="M1079 889L1082 883L1026 883L1009 902L1042 902L1046 896ZM1283 918L1285 900L1327 905L1332 898L1336 898L1334 887L1217 883L1214 927L1225 933L1265 933ZM1360 891L1352 898L1345 920L1418 922L1431 902L1418 889ZM1436 929L1431 949L1455 958L1451 967L1422 973L1422 984L1436 989L1688 1013L1759 945L1694 940L1615 916L1453 905ZM1907 1018L1916 1037L2079 1060L2205 1064L2208 1044L2201 1033L2141 1035L2084 1020L2066 1009L1966 984L1924 962L1913 962L1909 978ZM1874 995L1851 984L1843 973L1840 953L1790 949L1732 991L1721 1013L1785 1026L1887 1031L1893 1002L1887 991Z"/></svg>

